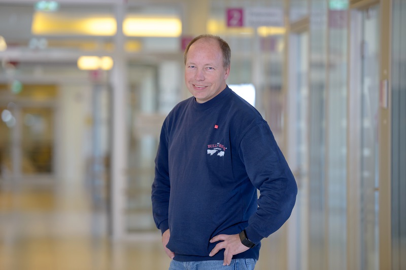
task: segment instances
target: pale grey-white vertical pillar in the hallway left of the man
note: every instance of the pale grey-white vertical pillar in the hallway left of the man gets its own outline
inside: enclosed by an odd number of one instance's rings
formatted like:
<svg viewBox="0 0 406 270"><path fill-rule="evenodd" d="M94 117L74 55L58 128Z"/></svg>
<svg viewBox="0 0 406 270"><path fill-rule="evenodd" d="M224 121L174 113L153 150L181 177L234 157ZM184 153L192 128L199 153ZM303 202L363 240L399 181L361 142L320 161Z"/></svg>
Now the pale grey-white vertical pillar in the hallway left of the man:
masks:
<svg viewBox="0 0 406 270"><path fill-rule="evenodd" d="M127 177L127 132L125 126L126 94L128 87L127 65L122 31L125 0L115 5L117 33L114 37L114 67L112 82L112 144L111 144L111 234L113 240L125 234L125 187Z"/></svg>

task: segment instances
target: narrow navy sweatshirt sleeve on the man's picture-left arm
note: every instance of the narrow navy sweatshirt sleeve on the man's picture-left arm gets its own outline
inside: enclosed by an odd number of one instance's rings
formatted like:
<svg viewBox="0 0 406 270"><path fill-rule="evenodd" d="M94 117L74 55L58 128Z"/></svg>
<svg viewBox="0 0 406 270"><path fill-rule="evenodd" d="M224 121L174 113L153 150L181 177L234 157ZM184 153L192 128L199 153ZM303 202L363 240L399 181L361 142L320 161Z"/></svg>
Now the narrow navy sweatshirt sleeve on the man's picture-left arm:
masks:
<svg viewBox="0 0 406 270"><path fill-rule="evenodd" d="M165 121L166 122L166 121ZM162 234L169 228L168 212L171 183L168 165L168 139L165 122L162 125L158 151L155 158L155 178L152 184L152 214L155 225Z"/></svg>

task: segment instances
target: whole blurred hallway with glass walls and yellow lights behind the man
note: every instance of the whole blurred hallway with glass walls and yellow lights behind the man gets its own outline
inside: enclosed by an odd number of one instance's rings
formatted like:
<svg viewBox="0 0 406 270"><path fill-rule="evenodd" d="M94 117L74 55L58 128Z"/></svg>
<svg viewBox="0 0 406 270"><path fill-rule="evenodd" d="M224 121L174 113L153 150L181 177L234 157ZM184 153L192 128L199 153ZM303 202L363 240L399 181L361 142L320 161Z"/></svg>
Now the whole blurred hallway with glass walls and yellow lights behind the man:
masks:
<svg viewBox="0 0 406 270"><path fill-rule="evenodd" d="M154 158L202 33L298 184L256 269L406 269L405 18L405 0L0 0L0 269L168 268Z"/></svg>

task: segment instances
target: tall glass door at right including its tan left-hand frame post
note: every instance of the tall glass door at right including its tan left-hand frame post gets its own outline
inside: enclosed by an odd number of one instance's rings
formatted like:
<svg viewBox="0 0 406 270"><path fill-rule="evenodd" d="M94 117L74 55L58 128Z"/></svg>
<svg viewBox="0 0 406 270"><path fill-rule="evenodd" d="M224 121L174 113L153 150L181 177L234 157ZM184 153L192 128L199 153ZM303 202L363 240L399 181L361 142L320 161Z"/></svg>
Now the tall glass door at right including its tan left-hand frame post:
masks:
<svg viewBox="0 0 406 270"><path fill-rule="evenodd" d="M351 10L348 266L379 269L380 6Z"/></svg>

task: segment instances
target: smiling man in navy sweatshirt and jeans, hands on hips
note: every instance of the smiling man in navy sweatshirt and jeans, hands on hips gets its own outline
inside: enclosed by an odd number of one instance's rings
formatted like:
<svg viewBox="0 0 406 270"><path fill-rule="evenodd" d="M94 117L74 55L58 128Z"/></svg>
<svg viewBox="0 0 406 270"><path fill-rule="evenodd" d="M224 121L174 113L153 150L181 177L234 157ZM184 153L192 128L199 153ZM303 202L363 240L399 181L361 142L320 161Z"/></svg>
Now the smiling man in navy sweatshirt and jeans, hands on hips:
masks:
<svg viewBox="0 0 406 270"><path fill-rule="evenodd" d="M230 56L218 36L189 43L185 83L193 97L162 125L152 206L170 270L253 269L260 240L295 203L296 182L268 124L226 85Z"/></svg>

